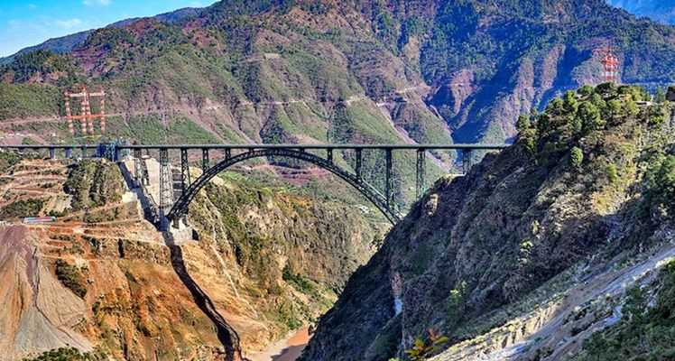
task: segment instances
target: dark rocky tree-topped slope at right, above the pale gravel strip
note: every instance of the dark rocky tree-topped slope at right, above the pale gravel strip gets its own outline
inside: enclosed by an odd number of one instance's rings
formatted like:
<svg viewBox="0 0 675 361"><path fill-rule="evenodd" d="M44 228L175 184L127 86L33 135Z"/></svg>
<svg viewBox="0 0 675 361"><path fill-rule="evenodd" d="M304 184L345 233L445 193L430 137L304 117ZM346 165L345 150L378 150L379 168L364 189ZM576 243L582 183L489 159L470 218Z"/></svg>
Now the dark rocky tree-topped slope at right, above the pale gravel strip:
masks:
<svg viewBox="0 0 675 361"><path fill-rule="evenodd" d="M303 359L402 356L427 329L447 335L448 346L478 339L587 257L658 244L649 235L673 215L675 125L672 103L638 105L645 97L603 84L522 116L513 147L467 177L439 180L394 227L321 319Z"/></svg>

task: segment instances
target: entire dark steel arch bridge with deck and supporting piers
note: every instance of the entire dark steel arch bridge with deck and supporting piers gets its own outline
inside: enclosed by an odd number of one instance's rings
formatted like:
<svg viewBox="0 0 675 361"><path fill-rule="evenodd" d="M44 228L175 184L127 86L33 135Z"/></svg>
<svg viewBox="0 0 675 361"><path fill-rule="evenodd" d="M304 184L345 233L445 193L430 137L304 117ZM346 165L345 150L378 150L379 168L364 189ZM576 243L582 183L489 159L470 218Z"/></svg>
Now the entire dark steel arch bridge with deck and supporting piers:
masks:
<svg viewBox="0 0 675 361"><path fill-rule="evenodd" d="M126 143L101 143L101 144L39 144L39 145L0 145L0 151L47 151L51 159L58 158L57 152L63 152L65 158L73 158L74 151L78 151L82 158L91 156L106 158L111 161L119 161L123 155L133 152L134 181L142 187L149 183L147 168L143 160L143 152L149 155L152 152L159 153L160 163L160 199L157 202L150 198L148 218L157 227L165 227L165 220L171 220L174 226L188 213L190 202L197 196L208 180L213 179L221 171L227 170L239 162L253 158L273 156L288 157L291 159L310 162L320 168L347 181L358 190L370 202L378 208L384 216L393 224L402 219L402 214L396 207L393 198L393 151L408 151L417 153L416 168L416 195L421 197L425 184L425 160L427 152L434 150L454 150L461 153L462 168L466 173L472 166L472 153L475 151L501 151L508 144L171 144L171 145L142 145ZM384 152L384 193L368 184L362 173L363 151ZM171 172L170 151L180 151L180 174ZM201 152L202 175L194 182L190 181L189 152ZM212 152L224 153L222 161L215 165L210 164ZM316 153L325 152L326 157ZM334 151L351 151L355 154L354 171L347 171L333 162ZM179 178L179 180L176 180ZM180 183L177 185L177 182ZM178 188L177 188L178 187ZM173 191L171 191L173 190ZM176 194L180 194L174 199Z"/></svg>

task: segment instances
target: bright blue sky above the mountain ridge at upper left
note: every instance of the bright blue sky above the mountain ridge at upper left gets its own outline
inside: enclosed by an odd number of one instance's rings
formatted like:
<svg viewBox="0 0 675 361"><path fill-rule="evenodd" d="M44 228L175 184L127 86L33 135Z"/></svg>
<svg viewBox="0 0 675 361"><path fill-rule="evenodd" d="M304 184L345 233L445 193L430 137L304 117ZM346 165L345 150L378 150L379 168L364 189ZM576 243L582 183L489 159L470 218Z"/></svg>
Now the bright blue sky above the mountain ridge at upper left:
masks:
<svg viewBox="0 0 675 361"><path fill-rule="evenodd" d="M215 0L0 0L0 57L73 32Z"/></svg>

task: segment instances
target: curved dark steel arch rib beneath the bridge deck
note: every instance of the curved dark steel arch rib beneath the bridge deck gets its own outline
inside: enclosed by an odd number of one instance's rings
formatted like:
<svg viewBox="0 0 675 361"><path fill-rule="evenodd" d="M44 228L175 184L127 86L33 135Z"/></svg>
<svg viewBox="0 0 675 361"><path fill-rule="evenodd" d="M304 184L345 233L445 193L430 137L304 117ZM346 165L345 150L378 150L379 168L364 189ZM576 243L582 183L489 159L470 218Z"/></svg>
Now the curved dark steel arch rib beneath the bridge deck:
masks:
<svg viewBox="0 0 675 361"><path fill-rule="evenodd" d="M202 173L201 176L188 188L185 189L183 194L178 200L173 204L173 207L167 214L167 218L171 221L182 218L188 213L188 207L190 202L197 197L199 190L204 188L209 180L212 180L216 177L221 171L225 171L228 168L234 166L237 163L247 161L254 158L263 158L270 156L282 156L292 159L301 160L304 162L310 162L320 168L323 168L331 173L337 175L340 179L347 181L349 185L358 190L362 195L365 196L374 206L379 209L392 224L399 222L402 219L402 215L396 211L394 208L390 207L387 203L384 195L376 190L373 186L366 183L362 178L356 176L356 174L345 171L335 165L334 162L331 162L327 159L321 158L318 155L303 152L300 150L293 149L250 149L245 153L237 154L233 157L227 158L221 162L218 162L213 167L209 168L207 171Z"/></svg>

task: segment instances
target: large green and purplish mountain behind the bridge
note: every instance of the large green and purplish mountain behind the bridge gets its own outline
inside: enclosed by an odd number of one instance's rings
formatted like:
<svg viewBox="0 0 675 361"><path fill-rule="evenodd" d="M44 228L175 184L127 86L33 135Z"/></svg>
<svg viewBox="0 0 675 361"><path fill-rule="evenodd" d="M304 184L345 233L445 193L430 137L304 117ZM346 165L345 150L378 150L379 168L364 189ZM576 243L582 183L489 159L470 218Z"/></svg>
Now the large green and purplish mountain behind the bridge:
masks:
<svg viewBox="0 0 675 361"><path fill-rule="evenodd" d="M42 119L80 82L106 88L109 135L139 142L501 143L521 114L601 82L606 43L620 44L624 82L669 83L674 34L601 0L224 1L23 54L0 70L0 118L33 140L78 141ZM151 130L184 126L184 139ZM414 160L396 156L407 207ZM456 165L433 156L435 174ZM366 173L383 162L369 154Z"/></svg>

